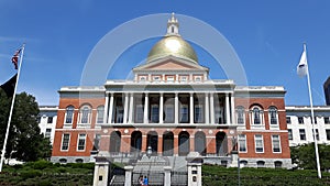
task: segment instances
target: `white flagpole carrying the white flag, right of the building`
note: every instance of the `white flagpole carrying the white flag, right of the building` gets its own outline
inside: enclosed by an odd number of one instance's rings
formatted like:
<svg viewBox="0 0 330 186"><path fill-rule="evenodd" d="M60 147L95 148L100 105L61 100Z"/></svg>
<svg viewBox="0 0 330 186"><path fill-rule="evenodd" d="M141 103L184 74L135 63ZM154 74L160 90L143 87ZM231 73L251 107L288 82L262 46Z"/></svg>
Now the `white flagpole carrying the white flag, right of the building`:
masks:
<svg viewBox="0 0 330 186"><path fill-rule="evenodd" d="M306 51L306 43L304 43L304 51L306 53L306 58L307 58L307 51ZM307 65L307 84L308 84L308 92L309 92L309 103L310 103L310 112L311 112L311 125L312 125L312 133L314 133L314 144L315 144L315 155L317 160L317 169L318 169L318 177L322 178L321 175L321 168L320 168L320 157L319 157L319 149L318 149L318 143L317 143L317 135L316 135L316 129L315 129L315 117L314 117L314 107L312 107L312 97L311 97L311 90L310 90L310 80L309 80L309 69Z"/></svg>

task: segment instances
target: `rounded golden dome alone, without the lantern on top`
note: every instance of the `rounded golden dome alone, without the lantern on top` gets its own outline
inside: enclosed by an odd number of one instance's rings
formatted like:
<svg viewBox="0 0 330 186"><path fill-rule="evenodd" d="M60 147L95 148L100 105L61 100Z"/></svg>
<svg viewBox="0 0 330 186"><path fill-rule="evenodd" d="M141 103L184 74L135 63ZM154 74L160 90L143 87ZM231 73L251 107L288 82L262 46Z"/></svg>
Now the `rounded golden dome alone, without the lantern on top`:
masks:
<svg viewBox="0 0 330 186"><path fill-rule="evenodd" d="M189 59L196 64L198 63L195 50L188 42L178 35L166 35L164 39L158 41L150 51L146 62L150 63L156 58L168 55Z"/></svg>

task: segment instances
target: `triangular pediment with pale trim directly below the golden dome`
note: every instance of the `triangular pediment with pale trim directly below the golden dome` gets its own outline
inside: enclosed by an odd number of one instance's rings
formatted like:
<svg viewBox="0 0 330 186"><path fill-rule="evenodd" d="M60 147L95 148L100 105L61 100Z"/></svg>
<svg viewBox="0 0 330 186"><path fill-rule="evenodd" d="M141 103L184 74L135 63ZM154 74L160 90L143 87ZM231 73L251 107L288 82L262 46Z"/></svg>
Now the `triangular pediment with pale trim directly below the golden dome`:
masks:
<svg viewBox="0 0 330 186"><path fill-rule="evenodd" d="M166 57L135 67L134 70L208 70L208 68L185 59Z"/></svg>

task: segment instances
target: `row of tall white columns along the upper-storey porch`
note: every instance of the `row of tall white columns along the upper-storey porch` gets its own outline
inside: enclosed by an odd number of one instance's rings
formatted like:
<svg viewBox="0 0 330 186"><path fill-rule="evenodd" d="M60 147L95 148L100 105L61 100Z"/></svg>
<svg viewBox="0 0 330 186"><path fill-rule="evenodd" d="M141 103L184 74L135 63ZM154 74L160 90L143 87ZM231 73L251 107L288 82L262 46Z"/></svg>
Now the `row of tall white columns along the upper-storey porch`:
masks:
<svg viewBox="0 0 330 186"><path fill-rule="evenodd" d="M103 122L231 124L233 119L232 92L107 92Z"/></svg>

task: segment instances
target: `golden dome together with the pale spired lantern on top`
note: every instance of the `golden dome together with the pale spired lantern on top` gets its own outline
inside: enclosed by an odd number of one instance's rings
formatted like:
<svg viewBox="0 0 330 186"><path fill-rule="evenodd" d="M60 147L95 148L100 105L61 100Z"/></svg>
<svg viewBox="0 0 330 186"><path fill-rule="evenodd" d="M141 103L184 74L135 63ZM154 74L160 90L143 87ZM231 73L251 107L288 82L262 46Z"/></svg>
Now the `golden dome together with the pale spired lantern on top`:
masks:
<svg viewBox="0 0 330 186"><path fill-rule="evenodd" d="M167 23L167 34L152 47L146 63L169 55L198 64L195 50L178 34L178 22L174 13L172 13L172 19Z"/></svg>

